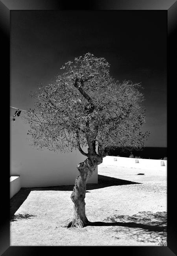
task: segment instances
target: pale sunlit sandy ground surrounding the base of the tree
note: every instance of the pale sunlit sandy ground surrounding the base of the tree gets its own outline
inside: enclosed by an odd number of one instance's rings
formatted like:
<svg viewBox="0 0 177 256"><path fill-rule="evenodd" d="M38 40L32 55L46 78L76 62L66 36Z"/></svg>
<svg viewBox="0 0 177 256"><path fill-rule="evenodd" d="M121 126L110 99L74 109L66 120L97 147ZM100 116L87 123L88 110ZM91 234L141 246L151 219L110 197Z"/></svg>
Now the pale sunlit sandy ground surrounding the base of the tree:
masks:
<svg viewBox="0 0 177 256"><path fill-rule="evenodd" d="M14 211L26 198L11 218L11 246L166 246L166 170L100 165L98 174L87 186L85 228L62 227L72 217L72 186L21 189L11 199Z"/></svg>

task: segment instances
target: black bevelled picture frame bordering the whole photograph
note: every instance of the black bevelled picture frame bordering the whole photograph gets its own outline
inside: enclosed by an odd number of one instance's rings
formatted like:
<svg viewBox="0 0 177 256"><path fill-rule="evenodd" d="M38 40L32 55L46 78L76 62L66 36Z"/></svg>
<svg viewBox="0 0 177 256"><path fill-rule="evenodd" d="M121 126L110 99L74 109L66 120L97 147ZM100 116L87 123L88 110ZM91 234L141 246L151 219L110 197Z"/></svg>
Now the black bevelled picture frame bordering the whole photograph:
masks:
<svg viewBox="0 0 177 256"><path fill-rule="evenodd" d="M84 2L84 1L83 1ZM3 88L3 95L8 95L9 93L9 83L10 83L10 12L13 10L67 10L67 9L76 9L76 10L166 10L167 12L167 23L168 23L168 96L170 93L170 88L175 84L175 63L176 61L176 50L175 50L175 32L176 32L176 14L177 14L177 2L175 0L168 0L166 2L160 0L153 0L153 1L143 1L143 0L136 0L136 1L116 1L116 0L90 0L87 3L79 4L76 1L70 5L68 2L63 0L1 0L0 1L0 29L1 29L1 50L3 53L1 62L2 62L2 78L4 83L2 83ZM7 91L6 91L7 90ZM4 93L5 92L5 93ZM2 97L3 98L3 97ZM171 100L170 100L171 101ZM6 107L6 104L9 104L8 100L6 100L5 105L3 105L2 111ZM9 105L8 105L9 108ZM169 100L168 100L168 121L170 116L170 109L169 108ZM4 116L4 115L3 115ZM8 118L8 115L7 115ZM3 118L4 119L4 118ZM9 120L9 119L8 119ZM4 132L9 132L9 122L3 120L3 134ZM9 152L9 144L7 143L7 136L2 136L4 141L2 142L4 147L4 151ZM170 147L170 140L168 136L168 147ZM8 155L8 154L7 154ZM8 156L7 156L8 158ZM171 159L172 156L168 153L168 160ZM9 158L8 158L9 159ZM3 159L3 162L8 162ZM175 188L175 173L173 169L171 169L170 161L168 161L168 245L167 247L154 247L154 246L143 246L143 247L131 247L131 246L122 246L119 247L117 253L124 253L124 254L132 254L132 255L144 255L144 256L162 256L168 255L172 256L176 254L176 217L174 211L174 204L173 204L173 197L174 197L174 188ZM174 169L175 171L175 169ZM2 189L2 197L4 199L4 203L2 211L2 218L1 218L1 228L0 228L0 255L7 256L20 256L20 255L41 255L43 252L49 255L53 255L53 250L57 251L58 253L61 252L61 248L59 247L26 247L26 246L19 246L13 247L10 246L10 230L9 230L9 171L7 171L7 164L6 169L2 171L2 179L3 184L5 185ZM170 202L171 201L171 202ZM64 251L67 254L68 249L72 250L74 247L65 247ZM77 249L79 249L77 247ZM90 249L94 249L94 247L87 248L87 252ZM101 248L100 248L101 249ZM99 252L100 252L99 249ZM115 249L115 248L114 248ZM105 250L105 248L104 248ZM108 248L110 250L110 248ZM121 251L121 252L120 252ZM56 252L55 252L56 253ZM84 253L84 252L83 252Z"/></svg>

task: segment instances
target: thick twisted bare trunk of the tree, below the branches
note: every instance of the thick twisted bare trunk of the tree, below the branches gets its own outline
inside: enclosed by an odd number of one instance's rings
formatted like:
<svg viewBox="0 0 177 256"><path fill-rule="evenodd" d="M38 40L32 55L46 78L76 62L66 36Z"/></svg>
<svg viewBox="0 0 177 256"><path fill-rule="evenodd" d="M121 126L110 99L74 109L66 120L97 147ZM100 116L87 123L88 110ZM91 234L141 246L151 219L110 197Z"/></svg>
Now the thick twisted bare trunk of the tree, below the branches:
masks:
<svg viewBox="0 0 177 256"><path fill-rule="evenodd" d="M76 178L74 189L71 194L72 202L74 202L74 216L69 223L66 223L64 227L70 228L85 227L89 224L89 221L85 214L85 191L87 180L92 176L98 164L102 163L103 158L94 156L87 158L82 163L77 165L79 176Z"/></svg>

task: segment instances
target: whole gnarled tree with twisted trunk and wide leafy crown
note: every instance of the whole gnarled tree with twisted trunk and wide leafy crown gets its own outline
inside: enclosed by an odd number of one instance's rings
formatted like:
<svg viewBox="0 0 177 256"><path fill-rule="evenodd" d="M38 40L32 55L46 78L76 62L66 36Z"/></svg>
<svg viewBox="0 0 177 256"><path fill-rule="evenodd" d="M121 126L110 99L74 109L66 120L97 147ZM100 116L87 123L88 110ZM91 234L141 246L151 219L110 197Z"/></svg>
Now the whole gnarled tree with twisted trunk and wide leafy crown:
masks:
<svg viewBox="0 0 177 256"><path fill-rule="evenodd" d="M86 157L77 165L79 175L71 194L74 216L67 228L89 224L86 183L107 156L107 149L141 148L149 135L140 130L145 122L140 84L115 81L109 67L104 58L87 53L65 63L63 74L32 94L35 109L28 111L28 119L33 145L60 152L77 149Z"/></svg>

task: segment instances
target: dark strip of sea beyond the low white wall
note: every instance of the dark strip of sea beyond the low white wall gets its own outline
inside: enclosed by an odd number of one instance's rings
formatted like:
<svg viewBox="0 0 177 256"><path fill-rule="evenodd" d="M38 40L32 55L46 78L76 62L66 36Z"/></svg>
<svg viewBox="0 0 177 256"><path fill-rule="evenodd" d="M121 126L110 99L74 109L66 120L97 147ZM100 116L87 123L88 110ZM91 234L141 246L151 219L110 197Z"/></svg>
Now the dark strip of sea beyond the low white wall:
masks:
<svg viewBox="0 0 177 256"><path fill-rule="evenodd" d="M125 148L126 149L126 148ZM144 147L142 150L126 150L125 152L122 151L122 148L115 148L109 150L109 156L122 156L122 157L129 157L130 154L133 154L134 157L140 156L146 159L163 159L167 157L167 148L161 147Z"/></svg>

